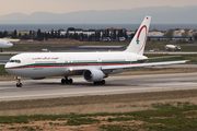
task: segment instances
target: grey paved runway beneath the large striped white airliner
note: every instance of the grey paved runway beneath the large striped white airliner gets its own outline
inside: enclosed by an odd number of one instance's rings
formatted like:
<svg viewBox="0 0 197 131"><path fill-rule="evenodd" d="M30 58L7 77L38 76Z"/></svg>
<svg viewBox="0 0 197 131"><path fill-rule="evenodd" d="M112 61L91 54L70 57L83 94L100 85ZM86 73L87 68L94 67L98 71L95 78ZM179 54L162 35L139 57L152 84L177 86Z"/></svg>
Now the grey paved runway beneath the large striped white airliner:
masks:
<svg viewBox="0 0 197 131"><path fill-rule="evenodd" d="M93 85L83 78L73 78L72 85L60 84L60 79L24 80L16 88L15 81L0 82L0 102L57 98L86 95L197 90L197 73L109 76L106 85Z"/></svg>

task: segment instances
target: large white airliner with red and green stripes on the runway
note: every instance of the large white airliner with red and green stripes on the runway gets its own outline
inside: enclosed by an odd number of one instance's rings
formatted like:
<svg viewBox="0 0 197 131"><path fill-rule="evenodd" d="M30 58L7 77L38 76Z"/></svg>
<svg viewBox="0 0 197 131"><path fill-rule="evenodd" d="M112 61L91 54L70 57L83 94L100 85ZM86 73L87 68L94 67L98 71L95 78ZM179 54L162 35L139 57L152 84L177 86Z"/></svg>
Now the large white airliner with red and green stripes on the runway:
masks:
<svg viewBox="0 0 197 131"><path fill-rule="evenodd" d="M16 87L22 87L22 78L42 80L46 76L63 76L62 84L72 84L72 75L83 75L88 82L105 85L109 74L131 68L185 63L187 60L148 62L143 56L151 16L146 16L138 32L124 51L100 52L26 52L10 58L5 70L16 75ZM157 59L159 59L157 57Z"/></svg>

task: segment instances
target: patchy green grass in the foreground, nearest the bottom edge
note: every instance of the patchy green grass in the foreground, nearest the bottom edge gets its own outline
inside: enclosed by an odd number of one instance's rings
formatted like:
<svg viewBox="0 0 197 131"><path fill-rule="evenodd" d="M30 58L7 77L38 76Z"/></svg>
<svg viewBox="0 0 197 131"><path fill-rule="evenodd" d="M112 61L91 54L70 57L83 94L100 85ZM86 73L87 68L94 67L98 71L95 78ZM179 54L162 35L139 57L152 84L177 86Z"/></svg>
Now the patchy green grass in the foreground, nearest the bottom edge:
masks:
<svg viewBox="0 0 197 131"><path fill-rule="evenodd" d="M31 121L66 121L63 126L97 124L105 131L135 131L135 130L197 130L197 105L189 103L153 104L154 110L95 114L95 115L59 115L59 116L19 116L0 117L0 123L28 123ZM108 117L111 116L111 117ZM97 117L108 117L99 120ZM105 124L100 124L101 122ZM116 121L115 123L112 123ZM126 122L127 121L127 122ZM136 123L135 121L141 121ZM121 123L120 123L121 122ZM53 124L53 123L51 123Z"/></svg>

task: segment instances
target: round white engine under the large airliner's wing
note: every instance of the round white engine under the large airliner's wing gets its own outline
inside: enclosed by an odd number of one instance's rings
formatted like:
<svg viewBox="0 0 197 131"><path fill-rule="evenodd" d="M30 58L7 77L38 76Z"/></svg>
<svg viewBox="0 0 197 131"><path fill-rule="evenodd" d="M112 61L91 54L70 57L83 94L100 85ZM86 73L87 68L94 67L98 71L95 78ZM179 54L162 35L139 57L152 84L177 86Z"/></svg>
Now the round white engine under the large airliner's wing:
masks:
<svg viewBox="0 0 197 131"><path fill-rule="evenodd" d="M92 70L85 70L83 72L83 78L84 80L86 80L88 82L99 82L101 81L103 78L105 76L105 74L97 69L92 69Z"/></svg>

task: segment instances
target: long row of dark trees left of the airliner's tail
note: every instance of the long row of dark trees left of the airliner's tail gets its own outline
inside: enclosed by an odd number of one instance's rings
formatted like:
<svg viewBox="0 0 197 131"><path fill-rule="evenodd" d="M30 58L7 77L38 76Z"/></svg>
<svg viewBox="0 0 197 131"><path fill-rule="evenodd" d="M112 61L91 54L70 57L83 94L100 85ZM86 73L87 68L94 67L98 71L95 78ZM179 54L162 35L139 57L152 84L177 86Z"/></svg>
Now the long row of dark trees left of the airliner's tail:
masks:
<svg viewBox="0 0 197 131"><path fill-rule="evenodd" d="M78 29L73 27L69 27L67 31L58 29L58 31L49 31L49 32L42 32L39 28L37 31L24 31L24 32L18 32L16 29L14 32L0 32L0 38L3 37L11 37L11 38L19 38L19 39L33 39L33 40L46 40L48 38L70 38L70 39L78 39L78 40L101 40L104 37L109 37L111 39L118 39L118 37L125 37L127 36L127 31L125 29L114 29L113 32L109 32L109 29L89 29L85 32L91 32L91 35L82 33L78 33ZM62 33L65 32L65 33ZM70 33L72 32L72 33ZM130 37L130 36L129 36Z"/></svg>

